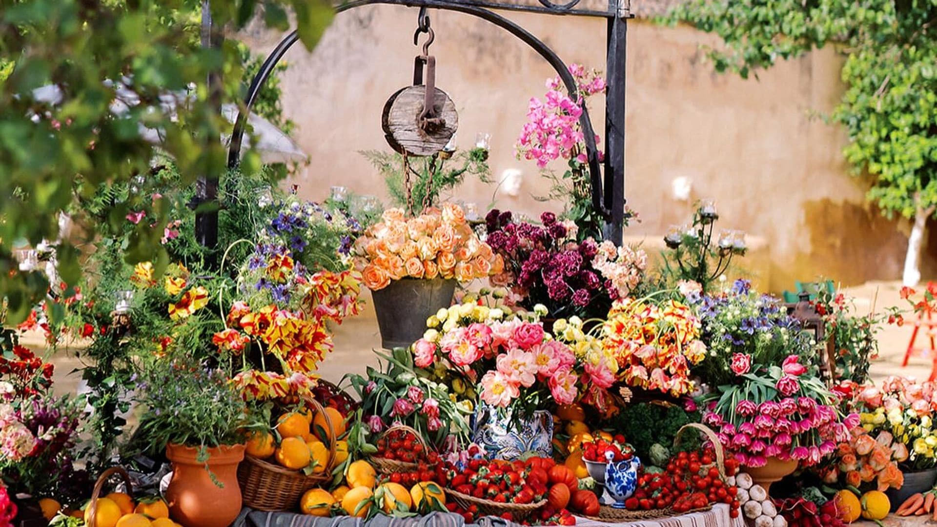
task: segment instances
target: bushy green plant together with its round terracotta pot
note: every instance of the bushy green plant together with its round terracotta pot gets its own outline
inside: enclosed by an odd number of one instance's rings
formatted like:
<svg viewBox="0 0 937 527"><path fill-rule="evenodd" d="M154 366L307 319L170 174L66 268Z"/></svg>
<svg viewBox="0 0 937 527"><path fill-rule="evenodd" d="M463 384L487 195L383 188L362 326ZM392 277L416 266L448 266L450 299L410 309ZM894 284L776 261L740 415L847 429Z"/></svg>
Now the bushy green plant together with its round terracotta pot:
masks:
<svg viewBox="0 0 937 527"><path fill-rule="evenodd" d="M226 527L241 511L237 466L244 459L248 414L220 369L182 357L144 368L138 435L166 449L172 478L166 499L184 525Z"/></svg>

